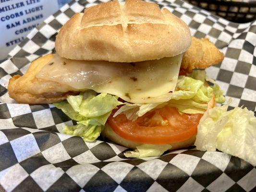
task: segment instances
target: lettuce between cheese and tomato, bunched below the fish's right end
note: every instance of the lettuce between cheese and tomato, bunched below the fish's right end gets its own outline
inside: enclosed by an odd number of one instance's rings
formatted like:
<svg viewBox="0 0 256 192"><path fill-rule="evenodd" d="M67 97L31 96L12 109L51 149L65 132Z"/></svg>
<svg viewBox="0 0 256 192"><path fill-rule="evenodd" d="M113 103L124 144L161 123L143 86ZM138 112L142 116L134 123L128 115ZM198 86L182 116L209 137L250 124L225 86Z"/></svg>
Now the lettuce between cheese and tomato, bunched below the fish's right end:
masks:
<svg viewBox="0 0 256 192"><path fill-rule="evenodd" d="M208 86L206 80L214 85ZM213 94L217 102L225 102L223 91L219 88L219 85L208 78L204 70L195 70L189 77L179 76L176 89L171 94L169 101L151 104L124 103L114 114L114 117L120 113L124 113L127 119L136 120L153 108L159 108L165 105L176 107L182 113L203 114L207 110L207 103L212 99Z"/></svg>

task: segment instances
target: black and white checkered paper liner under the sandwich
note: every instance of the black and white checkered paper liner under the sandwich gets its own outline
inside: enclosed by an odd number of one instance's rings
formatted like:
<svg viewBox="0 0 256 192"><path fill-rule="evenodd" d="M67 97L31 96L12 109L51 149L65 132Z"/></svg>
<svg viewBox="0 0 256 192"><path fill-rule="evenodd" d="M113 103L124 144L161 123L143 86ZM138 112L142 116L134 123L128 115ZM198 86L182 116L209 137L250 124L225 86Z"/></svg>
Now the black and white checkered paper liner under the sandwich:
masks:
<svg viewBox="0 0 256 192"><path fill-rule="evenodd" d="M103 0L104 1L104 0ZM74 12L100 3L66 4L34 29L0 64L0 184L10 191L222 192L256 191L256 168L221 152L193 148L160 157L128 159L126 148L98 139L85 143L65 135L73 121L53 105L16 104L9 79L31 61L54 50L61 26ZM181 0L157 1L185 21L193 36L208 37L225 53L207 73L219 83L231 107L256 111L256 22L234 24ZM228 100L228 99L227 99Z"/></svg>

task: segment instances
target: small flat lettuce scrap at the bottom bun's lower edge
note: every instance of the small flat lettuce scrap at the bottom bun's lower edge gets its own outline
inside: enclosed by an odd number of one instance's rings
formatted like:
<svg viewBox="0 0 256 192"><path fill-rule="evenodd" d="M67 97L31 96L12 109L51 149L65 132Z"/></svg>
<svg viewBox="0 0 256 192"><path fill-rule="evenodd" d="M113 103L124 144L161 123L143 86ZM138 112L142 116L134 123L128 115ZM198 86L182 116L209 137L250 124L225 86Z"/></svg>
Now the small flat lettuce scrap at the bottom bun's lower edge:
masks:
<svg viewBox="0 0 256 192"><path fill-rule="evenodd" d="M137 146L134 151L127 151L124 153L126 157L148 157L161 156L165 151L171 149L170 144L142 144Z"/></svg>

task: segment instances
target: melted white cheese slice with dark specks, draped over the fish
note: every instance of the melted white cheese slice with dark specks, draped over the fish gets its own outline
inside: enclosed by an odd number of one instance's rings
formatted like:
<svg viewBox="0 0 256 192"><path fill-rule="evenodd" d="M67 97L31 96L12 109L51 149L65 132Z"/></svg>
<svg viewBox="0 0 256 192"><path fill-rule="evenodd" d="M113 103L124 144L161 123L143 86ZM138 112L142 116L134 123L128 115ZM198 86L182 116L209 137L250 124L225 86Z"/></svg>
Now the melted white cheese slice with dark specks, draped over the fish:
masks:
<svg viewBox="0 0 256 192"><path fill-rule="evenodd" d="M182 56L117 63L68 60L55 54L37 78L68 84L78 91L109 93L131 103L164 102L177 84Z"/></svg>

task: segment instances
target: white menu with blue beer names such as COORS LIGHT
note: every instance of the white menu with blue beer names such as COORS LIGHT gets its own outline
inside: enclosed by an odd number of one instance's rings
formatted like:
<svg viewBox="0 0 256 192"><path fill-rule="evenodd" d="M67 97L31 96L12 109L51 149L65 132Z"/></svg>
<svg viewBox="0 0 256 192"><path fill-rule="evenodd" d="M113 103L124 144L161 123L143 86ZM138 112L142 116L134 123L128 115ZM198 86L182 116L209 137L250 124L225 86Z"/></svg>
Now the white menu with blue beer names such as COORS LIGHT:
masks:
<svg viewBox="0 0 256 192"><path fill-rule="evenodd" d="M69 0L0 0L0 60Z"/></svg>

